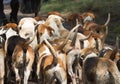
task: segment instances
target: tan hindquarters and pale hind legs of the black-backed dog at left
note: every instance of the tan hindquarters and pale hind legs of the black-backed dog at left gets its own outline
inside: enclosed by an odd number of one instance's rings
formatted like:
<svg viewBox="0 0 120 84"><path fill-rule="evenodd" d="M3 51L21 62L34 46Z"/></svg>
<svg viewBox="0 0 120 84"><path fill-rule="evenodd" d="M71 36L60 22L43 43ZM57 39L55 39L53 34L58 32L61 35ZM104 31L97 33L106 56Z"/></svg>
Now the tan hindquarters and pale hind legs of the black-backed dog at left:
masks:
<svg viewBox="0 0 120 84"><path fill-rule="evenodd" d="M16 83L28 84L34 62L34 50L30 42L21 42L15 46L12 54L12 66L15 72Z"/></svg>

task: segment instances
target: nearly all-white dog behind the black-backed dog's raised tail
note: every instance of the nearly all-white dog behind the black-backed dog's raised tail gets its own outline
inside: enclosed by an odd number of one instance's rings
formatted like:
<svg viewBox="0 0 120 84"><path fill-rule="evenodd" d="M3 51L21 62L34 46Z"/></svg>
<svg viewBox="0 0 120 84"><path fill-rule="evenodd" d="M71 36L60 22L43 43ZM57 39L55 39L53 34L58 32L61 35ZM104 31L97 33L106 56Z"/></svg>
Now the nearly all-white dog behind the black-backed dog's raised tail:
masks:
<svg viewBox="0 0 120 84"><path fill-rule="evenodd" d="M20 20L18 23L19 35L24 39L32 39L35 34L35 27L37 25L37 21L31 17L25 17ZM37 46L37 37L33 40L30 46L35 50Z"/></svg>

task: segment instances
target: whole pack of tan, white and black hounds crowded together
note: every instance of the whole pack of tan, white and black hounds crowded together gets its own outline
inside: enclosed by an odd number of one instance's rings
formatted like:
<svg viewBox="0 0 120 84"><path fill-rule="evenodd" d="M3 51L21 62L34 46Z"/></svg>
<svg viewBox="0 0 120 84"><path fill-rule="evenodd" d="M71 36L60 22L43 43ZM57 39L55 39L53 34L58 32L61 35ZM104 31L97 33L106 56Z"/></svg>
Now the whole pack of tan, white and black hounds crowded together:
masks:
<svg viewBox="0 0 120 84"><path fill-rule="evenodd" d="M0 84L120 84L119 37L106 45L91 12L23 17L0 26Z"/></svg>

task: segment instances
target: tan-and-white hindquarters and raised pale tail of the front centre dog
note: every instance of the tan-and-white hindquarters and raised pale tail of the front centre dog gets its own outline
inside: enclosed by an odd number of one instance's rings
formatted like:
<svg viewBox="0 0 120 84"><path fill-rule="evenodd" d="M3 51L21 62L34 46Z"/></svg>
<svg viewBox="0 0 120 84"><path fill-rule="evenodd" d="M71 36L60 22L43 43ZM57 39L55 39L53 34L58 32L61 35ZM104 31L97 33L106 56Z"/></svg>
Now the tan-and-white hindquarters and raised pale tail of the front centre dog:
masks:
<svg viewBox="0 0 120 84"><path fill-rule="evenodd" d="M54 49L46 39L44 39L44 41L47 49L45 49L45 45L41 47L46 51L42 52L44 54L41 57L38 57L38 79L45 84L52 83L54 79L59 80L61 84L67 84L66 65L63 63L63 60L59 58L60 55L65 54ZM40 53L38 55L40 55Z"/></svg>

